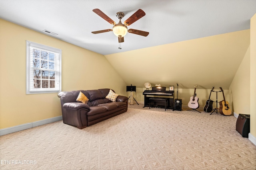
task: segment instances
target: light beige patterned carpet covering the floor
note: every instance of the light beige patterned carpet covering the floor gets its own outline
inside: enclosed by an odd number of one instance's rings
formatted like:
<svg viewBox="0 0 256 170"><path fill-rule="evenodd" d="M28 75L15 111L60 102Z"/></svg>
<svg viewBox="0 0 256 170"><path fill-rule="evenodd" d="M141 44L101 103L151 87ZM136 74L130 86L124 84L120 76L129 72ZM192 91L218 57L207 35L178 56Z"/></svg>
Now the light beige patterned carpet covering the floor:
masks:
<svg viewBox="0 0 256 170"><path fill-rule="evenodd" d="M256 146L235 128L234 116L134 105L85 129L58 121L4 135L0 169L255 170Z"/></svg>

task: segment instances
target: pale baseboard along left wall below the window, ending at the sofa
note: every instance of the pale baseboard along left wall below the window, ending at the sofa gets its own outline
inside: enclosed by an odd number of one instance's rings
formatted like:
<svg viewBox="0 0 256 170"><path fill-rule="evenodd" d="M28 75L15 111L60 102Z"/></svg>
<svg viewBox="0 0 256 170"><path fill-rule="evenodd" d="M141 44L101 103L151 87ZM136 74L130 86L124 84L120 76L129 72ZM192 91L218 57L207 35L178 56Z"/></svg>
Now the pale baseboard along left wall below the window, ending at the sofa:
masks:
<svg viewBox="0 0 256 170"><path fill-rule="evenodd" d="M22 131L22 130L29 129L29 128L36 127L36 126L40 126L40 125L45 125L45 124L52 123L54 121L60 121L60 120L62 120L62 116L52 117L52 118L49 118L49 119L34 121L34 122L31 122L31 123L26 123L26 124L22 124L22 125L18 125L18 126L13 126L13 127L5 128L5 129L0 129L0 136L7 135L9 133Z"/></svg>

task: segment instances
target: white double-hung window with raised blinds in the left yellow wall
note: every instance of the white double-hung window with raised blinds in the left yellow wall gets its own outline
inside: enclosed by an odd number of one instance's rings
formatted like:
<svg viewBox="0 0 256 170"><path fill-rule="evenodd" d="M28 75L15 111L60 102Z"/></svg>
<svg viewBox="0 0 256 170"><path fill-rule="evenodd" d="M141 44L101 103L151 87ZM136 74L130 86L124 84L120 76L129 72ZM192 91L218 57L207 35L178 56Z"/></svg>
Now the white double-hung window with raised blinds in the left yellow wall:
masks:
<svg viewBox="0 0 256 170"><path fill-rule="evenodd" d="M31 41L26 47L26 94L60 92L62 51Z"/></svg>

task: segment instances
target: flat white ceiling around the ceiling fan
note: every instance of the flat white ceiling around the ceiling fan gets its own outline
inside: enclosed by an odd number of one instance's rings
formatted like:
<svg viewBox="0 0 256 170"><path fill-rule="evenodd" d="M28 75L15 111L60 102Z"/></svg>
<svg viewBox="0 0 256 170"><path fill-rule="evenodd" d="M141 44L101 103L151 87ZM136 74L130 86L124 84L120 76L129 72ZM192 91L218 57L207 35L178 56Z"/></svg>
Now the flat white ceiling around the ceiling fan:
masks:
<svg viewBox="0 0 256 170"><path fill-rule="evenodd" d="M125 21L142 9L146 16L128 29L149 35L127 33L120 50L113 32L91 33L112 29L94 8L116 23L116 12ZM103 55L250 29L255 13L256 0L0 0L0 18Z"/></svg>

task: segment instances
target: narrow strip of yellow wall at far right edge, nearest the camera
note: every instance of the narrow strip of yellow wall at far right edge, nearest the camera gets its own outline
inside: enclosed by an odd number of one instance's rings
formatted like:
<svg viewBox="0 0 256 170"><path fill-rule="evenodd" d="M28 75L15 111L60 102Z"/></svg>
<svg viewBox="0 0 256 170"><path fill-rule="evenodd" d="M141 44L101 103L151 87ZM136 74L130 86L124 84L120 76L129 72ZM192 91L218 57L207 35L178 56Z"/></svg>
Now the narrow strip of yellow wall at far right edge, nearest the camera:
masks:
<svg viewBox="0 0 256 170"><path fill-rule="evenodd" d="M250 34L250 134L256 138L256 14L251 18Z"/></svg>

